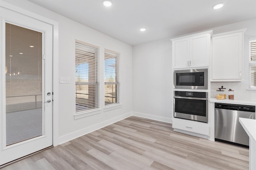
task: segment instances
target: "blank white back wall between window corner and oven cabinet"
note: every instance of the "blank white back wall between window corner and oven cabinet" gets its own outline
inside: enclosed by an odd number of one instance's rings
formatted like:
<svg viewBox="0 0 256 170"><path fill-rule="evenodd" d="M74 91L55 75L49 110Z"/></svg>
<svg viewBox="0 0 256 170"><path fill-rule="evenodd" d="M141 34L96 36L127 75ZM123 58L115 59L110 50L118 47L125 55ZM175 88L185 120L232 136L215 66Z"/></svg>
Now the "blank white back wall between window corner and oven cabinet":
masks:
<svg viewBox="0 0 256 170"><path fill-rule="evenodd" d="M133 47L134 115L170 122L172 58L169 39Z"/></svg>

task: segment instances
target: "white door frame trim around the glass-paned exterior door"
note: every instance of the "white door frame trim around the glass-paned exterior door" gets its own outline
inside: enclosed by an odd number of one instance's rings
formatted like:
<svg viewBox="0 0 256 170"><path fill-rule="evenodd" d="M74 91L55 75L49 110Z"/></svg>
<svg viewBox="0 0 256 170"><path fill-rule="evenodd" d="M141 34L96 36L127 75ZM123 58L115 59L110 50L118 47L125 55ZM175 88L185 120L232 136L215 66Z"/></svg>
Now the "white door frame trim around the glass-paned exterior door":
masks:
<svg viewBox="0 0 256 170"><path fill-rule="evenodd" d="M30 18L34 18L36 20L39 20L41 22L47 23L52 25L52 40L53 40L53 51L52 51L52 144L53 146L57 146L59 144L59 135L58 135L58 77L59 77L59 71L58 71L58 22L51 20L49 18L46 18L44 16L40 16L38 14L35 14L33 12L30 12L28 10L24 10L22 8L19 8L17 6L14 6L12 4L9 4L7 2L3 2L0 0L0 8L5 8L8 10L11 10L13 12L17 12L19 14L22 14L24 16L28 16ZM1 19L2 20L2 19ZM2 45L1 45L2 48ZM2 50L1 50L2 51ZM0 54L0 57L2 56L2 53ZM2 59L0 59L0 65L2 67ZM3 71L3 69L1 70ZM2 77L2 74L0 75ZM2 79L0 80L0 106L2 106ZM0 127L0 129L2 129ZM2 131L1 131L2 132ZM0 133L1 133L0 132Z"/></svg>

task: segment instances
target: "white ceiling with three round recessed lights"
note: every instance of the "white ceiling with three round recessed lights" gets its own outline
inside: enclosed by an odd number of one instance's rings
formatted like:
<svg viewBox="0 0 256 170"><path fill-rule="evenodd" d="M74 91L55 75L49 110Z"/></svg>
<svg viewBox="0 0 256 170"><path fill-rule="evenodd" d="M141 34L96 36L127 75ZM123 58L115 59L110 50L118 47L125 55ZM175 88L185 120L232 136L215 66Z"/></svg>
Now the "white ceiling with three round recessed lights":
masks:
<svg viewBox="0 0 256 170"><path fill-rule="evenodd" d="M256 0L28 0L130 45L256 18ZM212 6L225 2L223 8ZM140 28L146 28L140 32Z"/></svg>

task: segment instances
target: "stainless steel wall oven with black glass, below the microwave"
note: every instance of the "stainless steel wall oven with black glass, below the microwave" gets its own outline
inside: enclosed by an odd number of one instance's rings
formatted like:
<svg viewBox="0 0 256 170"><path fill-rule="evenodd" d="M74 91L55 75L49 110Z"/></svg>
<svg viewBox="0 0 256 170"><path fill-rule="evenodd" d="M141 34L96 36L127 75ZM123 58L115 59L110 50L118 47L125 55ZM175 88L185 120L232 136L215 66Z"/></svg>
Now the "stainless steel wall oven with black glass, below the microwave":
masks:
<svg viewBox="0 0 256 170"><path fill-rule="evenodd" d="M208 123L208 93L174 91L174 117Z"/></svg>

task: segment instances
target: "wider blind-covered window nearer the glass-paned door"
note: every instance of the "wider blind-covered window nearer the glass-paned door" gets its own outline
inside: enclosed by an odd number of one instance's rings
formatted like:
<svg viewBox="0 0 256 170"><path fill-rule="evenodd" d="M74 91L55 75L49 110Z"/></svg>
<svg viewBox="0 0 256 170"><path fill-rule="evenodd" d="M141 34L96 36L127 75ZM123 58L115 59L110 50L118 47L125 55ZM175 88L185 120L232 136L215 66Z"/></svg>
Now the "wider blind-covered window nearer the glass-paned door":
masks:
<svg viewBox="0 0 256 170"><path fill-rule="evenodd" d="M76 40L76 113L98 108L98 49Z"/></svg>

